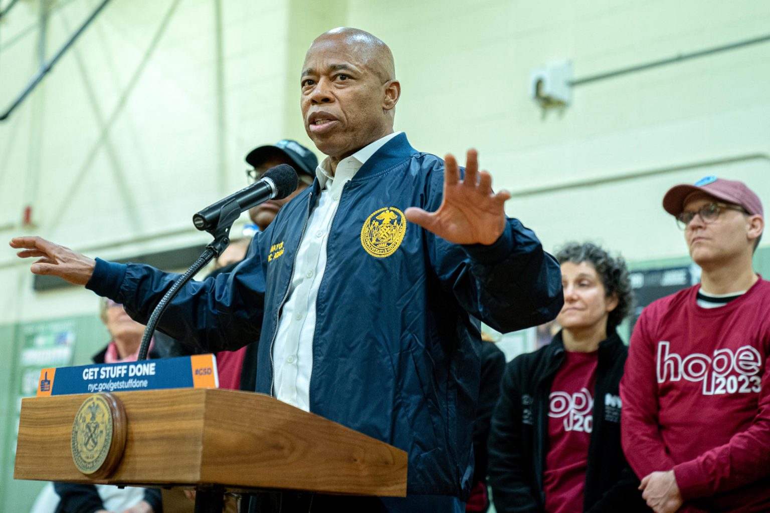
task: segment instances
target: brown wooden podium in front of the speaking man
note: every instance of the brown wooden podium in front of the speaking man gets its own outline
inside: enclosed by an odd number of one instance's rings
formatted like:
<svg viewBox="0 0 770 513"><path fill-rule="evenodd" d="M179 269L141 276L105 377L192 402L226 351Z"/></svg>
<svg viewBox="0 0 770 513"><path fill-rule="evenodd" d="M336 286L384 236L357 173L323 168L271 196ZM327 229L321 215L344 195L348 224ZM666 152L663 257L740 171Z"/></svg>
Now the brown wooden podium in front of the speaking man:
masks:
<svg viewBox="0 0 770 513"><path fill-rule="evenodd" d="M113 395L127 422L110 475L90 478L72 461L72 421L89 397L77 394L22 400L14 478L219 493L407 494L405 451L268 395L213 388Z"/></svg>

